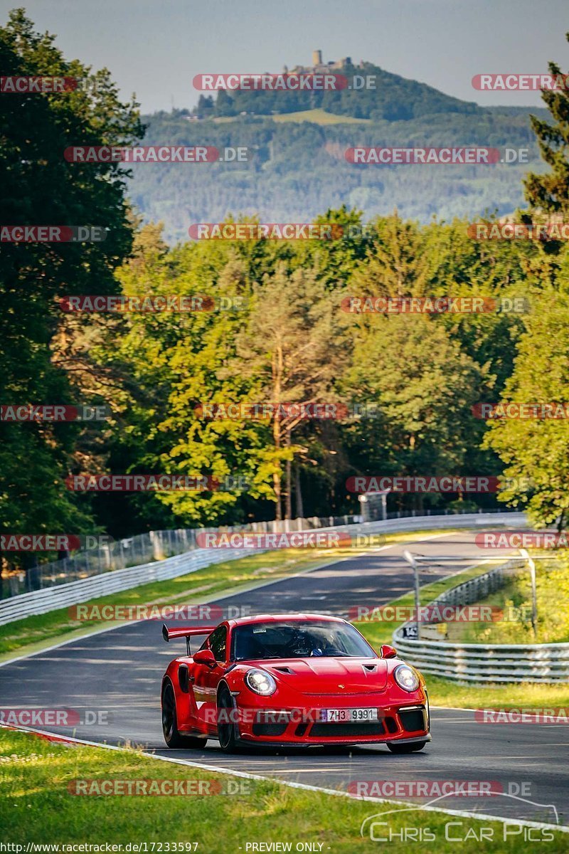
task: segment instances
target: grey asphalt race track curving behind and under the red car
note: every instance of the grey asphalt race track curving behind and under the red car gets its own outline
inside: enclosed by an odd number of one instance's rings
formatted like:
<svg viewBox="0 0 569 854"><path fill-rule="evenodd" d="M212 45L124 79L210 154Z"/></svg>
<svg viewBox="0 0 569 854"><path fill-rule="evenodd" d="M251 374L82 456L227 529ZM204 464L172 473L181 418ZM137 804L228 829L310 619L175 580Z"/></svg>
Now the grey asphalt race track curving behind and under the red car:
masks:
<svg viewBox="0 0 569 854"><path fill-rule="evenodd" d="M412 545L382 547L364 557L217 601L223 606L240 605L251 613L304 611L347 617L352 605L380 605L412 587L412 573L402 557L405 548L426 555L472 557L474 563L480 559L474 535L475 531L435 538L424 535ZM444 564L438 576L465 565ZM435 577L426 575L422 582ZM434 709L433 742L409 756L393 755L384 746L286 752L252 749L229 756L220 752L215 740L201 751L169 751L160 727L160 678L184 643L166 645L160 629L154 621L125 623L119 629L4 664L0 666L0 706L73 708L82 720L87 711L94 713L87 716L91 718L99 711L108 712L110 720L105 724L85 722L53 731L111 744L130 741L168 757L323 788L346 789L355 781L491 781L495 790L496 783L502 784L503 796L450 797L433 805L569 824L569 726L563 724L485 725L474 721L473 711ZM370 804L370 815L380 810L380 804L377 809Z"/></svg>

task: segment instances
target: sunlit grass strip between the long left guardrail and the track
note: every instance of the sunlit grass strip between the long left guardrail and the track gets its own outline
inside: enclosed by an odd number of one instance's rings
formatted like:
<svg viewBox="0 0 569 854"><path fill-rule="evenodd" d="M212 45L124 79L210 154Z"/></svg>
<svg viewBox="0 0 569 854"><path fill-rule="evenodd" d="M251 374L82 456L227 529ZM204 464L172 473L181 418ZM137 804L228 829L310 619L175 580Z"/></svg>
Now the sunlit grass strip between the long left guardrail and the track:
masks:
<svg viewBox="0 0 569 854"><path fill-rule="evenodd" d="M387 534L381 542L385 544L414 540L421 535L436 535L442 531L425 531L401 534ZM445 530L444 533L456 533ZM226 561L223 564L208 566L189 575L178 576L170 581L151 582L141 587L131 588L122 593L91 600L90 605L180 605L199 604L212 601L219 594L227 595L236 590L251 588L259 582L284 578L294 573L310 570L316 566L334 560L355 557L369 549L331 548L331 549L280 549L264 554L253 554L250 558ZM27 654L36 652L42 646L55 644L61 640L81 637L96 629L105 628L113 623L79 623L72 619L67 608L49 611L36 617L26 617L0 626L0 660L5 660L15 652Z"/></svg>

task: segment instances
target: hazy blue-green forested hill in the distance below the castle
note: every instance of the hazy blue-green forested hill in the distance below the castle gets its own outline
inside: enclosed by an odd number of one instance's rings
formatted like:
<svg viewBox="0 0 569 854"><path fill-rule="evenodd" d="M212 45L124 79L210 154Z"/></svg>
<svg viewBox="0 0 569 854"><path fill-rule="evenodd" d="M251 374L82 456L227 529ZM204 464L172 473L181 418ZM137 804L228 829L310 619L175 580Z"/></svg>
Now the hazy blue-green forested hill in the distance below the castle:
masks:
<svg viewBox="0 0 569 854"><path fill-rule="evenodd" d="M211 99L201 119L188 109L145 117L147 145L247 146L250 159L133 166L132 202L145 219L165 222L170 241L187 240L192 223L223 221L228 213L305 222L346 204L361 208L365 219L397 207L402 216L425 222L502 215L523 204L521 178L530 166L541 168L529 114L544 110L482 108L369 63L355 71L380 74L379 90L234 92L232 105L229 96L221 108L219 97ZM241 109L253 102L254 114ZM345 161L345 149L355 145L521 148L528 149L529 162L363 167Z"/></svg>

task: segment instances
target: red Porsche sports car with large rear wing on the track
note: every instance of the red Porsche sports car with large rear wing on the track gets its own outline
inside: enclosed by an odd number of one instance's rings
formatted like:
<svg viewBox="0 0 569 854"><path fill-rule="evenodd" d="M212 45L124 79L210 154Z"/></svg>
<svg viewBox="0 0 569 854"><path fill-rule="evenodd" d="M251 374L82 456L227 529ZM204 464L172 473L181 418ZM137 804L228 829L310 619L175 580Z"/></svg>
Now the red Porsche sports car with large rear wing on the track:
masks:
<svg viewBox="0 0 569 854"><path fill-rule="evenodd" d="M281 614L225 620L217 627L162 629L185 638L162 680L162 728L169 747L217 738L239 746L385 743L394 753L431 740L425 680L380 655L339 617ZM207 635L193 655L190 639Z"/></svg>

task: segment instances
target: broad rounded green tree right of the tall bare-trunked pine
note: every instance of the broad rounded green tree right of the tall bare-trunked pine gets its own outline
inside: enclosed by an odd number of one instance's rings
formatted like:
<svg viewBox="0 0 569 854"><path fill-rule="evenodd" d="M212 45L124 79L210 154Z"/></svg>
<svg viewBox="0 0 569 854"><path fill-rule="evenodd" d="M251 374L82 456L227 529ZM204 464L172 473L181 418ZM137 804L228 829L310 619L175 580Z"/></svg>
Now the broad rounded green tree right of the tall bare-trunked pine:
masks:
<svg viewBox="0 0 569 854"><path fill-rule="evenodd" d="M378 317L360 330L347 379L358 395L380 407L380 425L373 430L381 436L374 445L380 471L431 476L467 471L470 407L480 377L479 366L444 325L424 316ZM415 497L421 507L421 494Z"/></svg>

